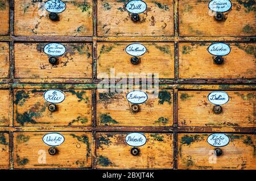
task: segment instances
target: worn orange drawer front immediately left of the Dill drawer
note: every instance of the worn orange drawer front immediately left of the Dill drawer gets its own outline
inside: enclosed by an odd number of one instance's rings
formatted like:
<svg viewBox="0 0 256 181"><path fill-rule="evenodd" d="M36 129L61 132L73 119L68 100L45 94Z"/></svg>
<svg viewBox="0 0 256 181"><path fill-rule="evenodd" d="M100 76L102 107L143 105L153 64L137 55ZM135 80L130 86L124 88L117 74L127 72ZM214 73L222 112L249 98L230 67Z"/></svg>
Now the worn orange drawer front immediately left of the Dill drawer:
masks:
<svg viewBox="0 0 256 181"><path fill-rule="evenodd" d="M67 0L66 9L51 20L45 3L20 0L14 2L14 33L16 36L92 36L92 0ZM63 6L63 5L61 5ZM52 10L50 10L52 11ZM26 22L26 26L24 26Z"/></svg>

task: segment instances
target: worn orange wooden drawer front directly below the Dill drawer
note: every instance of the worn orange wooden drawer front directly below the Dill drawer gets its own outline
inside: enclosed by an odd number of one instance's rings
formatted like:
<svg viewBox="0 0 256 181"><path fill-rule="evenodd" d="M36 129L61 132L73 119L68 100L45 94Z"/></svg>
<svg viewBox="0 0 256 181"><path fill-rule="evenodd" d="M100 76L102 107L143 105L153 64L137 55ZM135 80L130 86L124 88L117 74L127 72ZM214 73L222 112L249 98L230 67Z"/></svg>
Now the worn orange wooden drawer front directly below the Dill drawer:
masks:
<svg viewBox="0 0 256 181"><path fill-rule="evenodd" d="M141 56L132 56L130 54L134 53L126 52L126 48L132 44L98 43L97 78L104 78L106 73L110 76L112 69L115 75L125 73L127 77L129 73L141 74L134 75L137 78L145 77L148 73L158 73L159 78L174 78L174 43L139 43L146 50L144 54L140 53ZM138 64L131 63L133 57L139 59Z"/></svg>

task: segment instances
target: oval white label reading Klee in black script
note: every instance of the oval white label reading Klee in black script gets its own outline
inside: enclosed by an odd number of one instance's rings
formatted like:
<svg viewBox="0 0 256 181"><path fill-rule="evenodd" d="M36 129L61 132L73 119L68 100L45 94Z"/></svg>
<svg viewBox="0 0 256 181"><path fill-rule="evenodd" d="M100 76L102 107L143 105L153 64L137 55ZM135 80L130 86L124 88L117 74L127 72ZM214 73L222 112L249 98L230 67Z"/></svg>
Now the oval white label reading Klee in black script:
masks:
<svg viewBox="0 0 256 181"><path fill-rule="evenodd" d="M49 103L61 103L65 99L65 94L60 90L48 90L44 92L44 99Z"/></svg>

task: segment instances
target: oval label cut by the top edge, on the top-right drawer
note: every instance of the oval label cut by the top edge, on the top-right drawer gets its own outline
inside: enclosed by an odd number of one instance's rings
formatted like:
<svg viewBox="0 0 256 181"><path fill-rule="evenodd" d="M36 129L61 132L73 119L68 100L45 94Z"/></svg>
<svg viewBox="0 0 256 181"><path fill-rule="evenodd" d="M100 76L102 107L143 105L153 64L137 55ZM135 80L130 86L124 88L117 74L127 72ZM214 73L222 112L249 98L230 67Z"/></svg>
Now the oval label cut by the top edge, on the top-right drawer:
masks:
<svg viewBox="0 0 256 181"><path fill-rule="evenodd" d="M209 2L208 7L216 12L226 12L231 9L232 3L229 0L213 0Z"/></svg>

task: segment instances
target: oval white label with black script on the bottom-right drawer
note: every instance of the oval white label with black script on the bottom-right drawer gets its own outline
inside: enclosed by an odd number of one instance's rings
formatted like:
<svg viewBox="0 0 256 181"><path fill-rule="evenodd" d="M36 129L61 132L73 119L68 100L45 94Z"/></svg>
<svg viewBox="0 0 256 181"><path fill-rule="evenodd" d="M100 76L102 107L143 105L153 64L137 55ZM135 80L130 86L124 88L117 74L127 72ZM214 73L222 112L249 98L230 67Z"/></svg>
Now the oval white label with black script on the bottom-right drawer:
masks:
<svg viewBox="0 0 256 181"><path fill-rule="evenodd" d="M229 137L223 133L214 133L214 134L210 134L210 136L208 136L207 142L208 142L208 144L215 146L215 147L226 146L229 144Z"/></svg>

